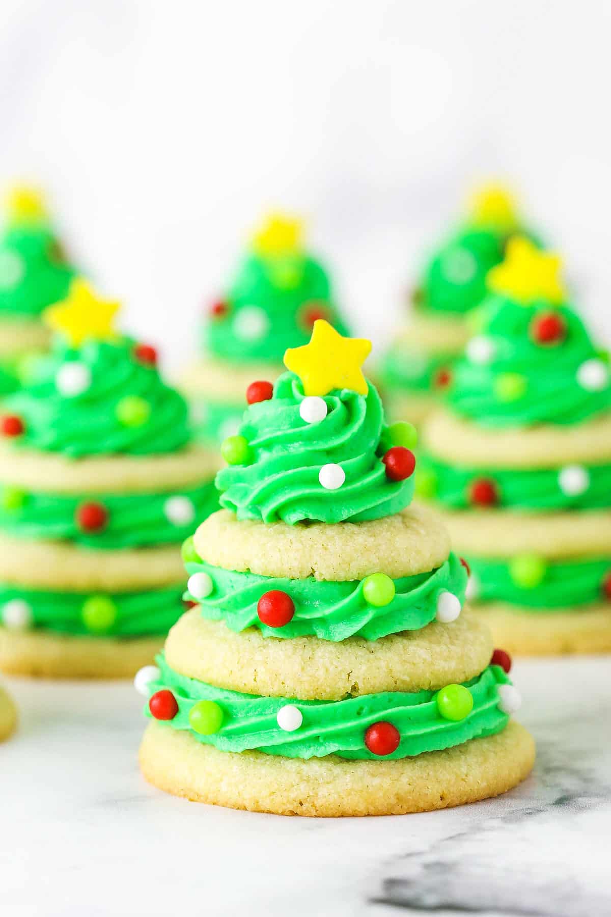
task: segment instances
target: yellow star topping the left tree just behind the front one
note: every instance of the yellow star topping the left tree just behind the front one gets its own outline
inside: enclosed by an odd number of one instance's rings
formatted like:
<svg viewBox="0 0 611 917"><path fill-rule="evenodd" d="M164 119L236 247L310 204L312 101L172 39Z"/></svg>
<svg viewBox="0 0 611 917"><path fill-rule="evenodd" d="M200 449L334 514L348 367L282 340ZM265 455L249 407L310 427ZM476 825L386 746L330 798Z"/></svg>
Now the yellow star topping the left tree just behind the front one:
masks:
<svg viewBox="0 0 611 917"><path fill-rule="evenodd" d="M80 347L84 340L112 340L116 337L115 314L118 303L100 299L93 287L82 277L70 285L68 298L49 305L43 318L54 331L60 331L72 347Z"/></svg>

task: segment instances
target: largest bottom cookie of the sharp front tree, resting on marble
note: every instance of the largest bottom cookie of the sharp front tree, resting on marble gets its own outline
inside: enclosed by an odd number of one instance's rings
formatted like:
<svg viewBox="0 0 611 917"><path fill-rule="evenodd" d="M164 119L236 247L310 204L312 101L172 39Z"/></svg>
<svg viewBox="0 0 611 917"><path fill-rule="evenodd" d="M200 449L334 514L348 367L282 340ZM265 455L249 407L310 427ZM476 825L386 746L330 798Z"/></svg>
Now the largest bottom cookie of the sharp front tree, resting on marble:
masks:
<svg viewBox="0 0 611 917"><path fill-rule="evenodd" d="M191 801L278 815L336 817L431 812L498 796L525 779L534 741L511 721L502 733L398 761L221 752L158 722L140 746L144 777Z"/></svg>

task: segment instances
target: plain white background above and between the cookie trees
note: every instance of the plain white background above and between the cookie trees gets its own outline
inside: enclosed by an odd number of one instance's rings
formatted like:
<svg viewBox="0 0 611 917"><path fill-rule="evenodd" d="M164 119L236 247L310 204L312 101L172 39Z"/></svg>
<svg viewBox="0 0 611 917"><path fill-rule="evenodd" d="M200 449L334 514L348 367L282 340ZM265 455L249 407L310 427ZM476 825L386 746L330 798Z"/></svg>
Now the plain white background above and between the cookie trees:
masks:
<svg viewBox="0 0 611 917"><path fill-rule="evenodd" d="M268 206L383 340L470 184L504 176L611 330L611 6L3 0L0 182L44 183L174 367Z"/></svg>

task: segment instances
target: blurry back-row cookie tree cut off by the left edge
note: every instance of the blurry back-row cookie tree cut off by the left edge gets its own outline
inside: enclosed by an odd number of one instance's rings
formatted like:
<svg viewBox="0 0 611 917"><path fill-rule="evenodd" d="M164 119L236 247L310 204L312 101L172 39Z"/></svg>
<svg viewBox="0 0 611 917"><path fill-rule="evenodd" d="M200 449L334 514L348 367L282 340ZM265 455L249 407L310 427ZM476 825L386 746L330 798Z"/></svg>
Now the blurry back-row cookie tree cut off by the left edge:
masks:
<svg viewBox="0 0 611 917"><path fill-rule="evenodd" d="M72 276L40 194L14 188L0 237L0 394L14 391L26 359L47 347L40 315L66 295Z"/></svg>

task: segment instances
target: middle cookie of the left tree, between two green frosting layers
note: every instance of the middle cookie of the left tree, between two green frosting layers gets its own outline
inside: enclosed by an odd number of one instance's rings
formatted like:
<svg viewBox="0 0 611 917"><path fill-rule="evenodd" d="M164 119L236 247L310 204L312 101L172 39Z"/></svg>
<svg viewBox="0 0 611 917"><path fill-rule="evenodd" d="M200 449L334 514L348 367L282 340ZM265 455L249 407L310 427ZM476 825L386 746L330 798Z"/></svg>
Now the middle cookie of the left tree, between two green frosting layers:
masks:
<svg viewBox="0 0 611 917"><path fill-rule="evenodd" d="M26 541L0 534L0 582L51 591L122 592L185 580L180 549L94 550L70 542Z"/></svg>

